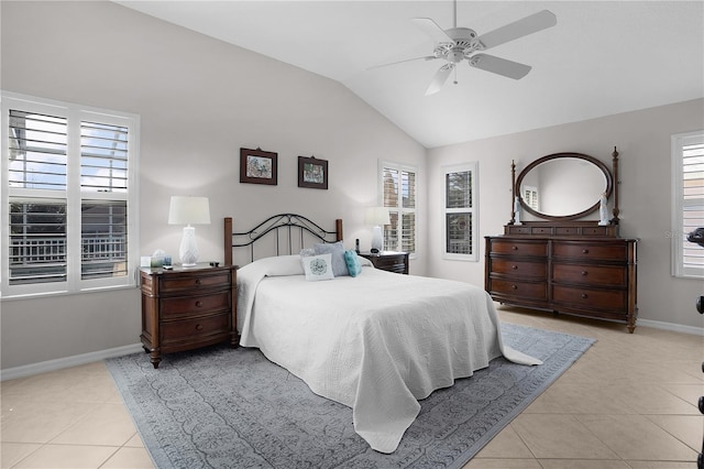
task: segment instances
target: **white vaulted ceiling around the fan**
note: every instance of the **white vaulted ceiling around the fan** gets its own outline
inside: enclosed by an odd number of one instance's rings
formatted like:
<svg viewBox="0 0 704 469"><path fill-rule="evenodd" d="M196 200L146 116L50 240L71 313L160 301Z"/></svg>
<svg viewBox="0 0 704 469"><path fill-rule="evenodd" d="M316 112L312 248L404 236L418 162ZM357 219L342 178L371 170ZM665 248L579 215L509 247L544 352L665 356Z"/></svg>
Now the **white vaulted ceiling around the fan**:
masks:
<svg viewBox="0 0 704 469"><path fill-rule="evenodd" d="M427 148L704 97L703 1L466 1L458 26L481 36L543 9L554 28L488 50L532 66L520 80L459 65L425 90L441 61L411 23L452 28L431 1L118 1L150 15L332 78Z"/></svg>

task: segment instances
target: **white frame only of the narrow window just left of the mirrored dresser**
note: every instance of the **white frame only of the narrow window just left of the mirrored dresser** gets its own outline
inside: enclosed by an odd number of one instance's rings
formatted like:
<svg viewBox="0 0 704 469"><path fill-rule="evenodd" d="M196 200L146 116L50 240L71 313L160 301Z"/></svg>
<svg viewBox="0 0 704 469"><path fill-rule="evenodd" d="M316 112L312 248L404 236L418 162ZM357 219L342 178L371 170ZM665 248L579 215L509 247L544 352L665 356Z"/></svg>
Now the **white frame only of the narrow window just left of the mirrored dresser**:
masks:
<svg viewBox="0 0 704 469"><path fill-rule="evenodd" d="M446 165L442 167L442 259L452 260L452 261L465 261L465 262L479 262L479 162L469 162L469 163L460 163ZM471 207L448 207L448 186L447 179L448 175L452 173L465 173L470 172L472 174L472 183L471 187ZM448 252L448 215L451 214L471 214L472 222L471 222L471 232L472 239L470 241L472 253L463 254L463 253L454 253Z"/></svg>

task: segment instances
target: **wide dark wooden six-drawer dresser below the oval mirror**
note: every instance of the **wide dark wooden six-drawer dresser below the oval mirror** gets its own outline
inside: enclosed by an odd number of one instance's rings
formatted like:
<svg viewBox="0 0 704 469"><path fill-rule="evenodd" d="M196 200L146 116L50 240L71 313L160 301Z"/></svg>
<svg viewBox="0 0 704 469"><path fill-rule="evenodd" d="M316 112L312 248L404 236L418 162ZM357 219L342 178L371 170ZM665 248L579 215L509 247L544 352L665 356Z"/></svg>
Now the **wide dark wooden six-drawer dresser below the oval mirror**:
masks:
<svg viewBox="0 0 704 469"><path fill-rule="evenodd" d="M616 320L635 330L637 240L586 234L485 239L485 290L495 301Z"/></svg>

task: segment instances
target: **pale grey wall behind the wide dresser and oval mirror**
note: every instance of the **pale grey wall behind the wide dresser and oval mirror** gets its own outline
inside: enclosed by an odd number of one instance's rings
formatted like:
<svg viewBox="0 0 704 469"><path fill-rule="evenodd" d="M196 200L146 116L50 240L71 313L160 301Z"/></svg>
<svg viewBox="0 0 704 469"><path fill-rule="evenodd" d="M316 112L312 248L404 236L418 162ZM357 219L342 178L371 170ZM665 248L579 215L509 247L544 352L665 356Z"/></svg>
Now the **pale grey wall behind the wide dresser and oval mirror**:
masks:
<svg viewBox="0 0 704 469"><path fill-rule="evenodd" d="M670 275L670 135L703 128L704 100L697 99L430 150L429 275L484 284L483 242L480 262L441 258L441 165L479 162L480 234L485 237L503 233L510 219L512 160L517 173L534 160L559 152L585 153L610 167L610 154L617 146L620 234L640 240L639 318L704 327L704 317L694 309L704 283Z"/></svg>

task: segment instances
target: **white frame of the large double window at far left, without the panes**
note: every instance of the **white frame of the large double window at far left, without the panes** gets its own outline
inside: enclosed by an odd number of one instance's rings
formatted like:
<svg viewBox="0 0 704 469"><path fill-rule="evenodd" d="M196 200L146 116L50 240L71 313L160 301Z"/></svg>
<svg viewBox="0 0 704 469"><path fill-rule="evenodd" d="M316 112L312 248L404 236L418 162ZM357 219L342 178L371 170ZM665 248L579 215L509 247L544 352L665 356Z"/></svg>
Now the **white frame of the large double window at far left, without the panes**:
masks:
<svg viewBox="0 0 704 469"><path fill-rule="evenodd" d="M77 103L45 99L11 91L1 91L2 112L1 164L0 164L0 297L32 297L53 294L80 293L96 290L134 287L133 273L140 265L139 254L139 149L140 116L91 108ZM67 119L66 188L35 189L9 186L10 109L64 117ZM81 122L98 122L128 129L127 192L81 190ZM66 279L58 282L10 284L10 201L13 199L44 199L66 204ZM127 266L125 274L99 279L81 279L81 207L94 201L122 201L127 204Z"/></svg>

